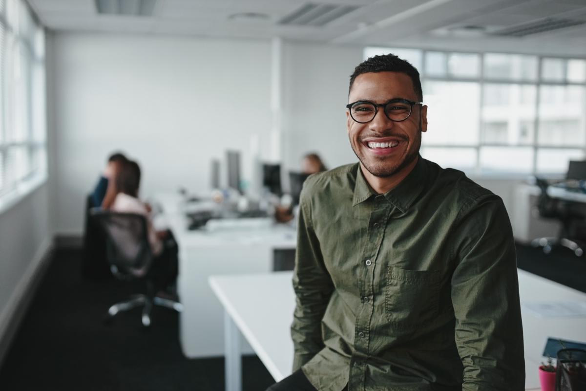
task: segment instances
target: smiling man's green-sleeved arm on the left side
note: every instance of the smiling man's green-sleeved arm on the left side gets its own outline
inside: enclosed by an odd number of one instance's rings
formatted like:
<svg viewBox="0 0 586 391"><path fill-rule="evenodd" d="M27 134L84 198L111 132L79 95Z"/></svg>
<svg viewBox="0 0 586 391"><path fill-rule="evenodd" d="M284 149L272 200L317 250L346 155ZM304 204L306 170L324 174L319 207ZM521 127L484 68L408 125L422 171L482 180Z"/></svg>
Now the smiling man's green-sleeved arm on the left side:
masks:
<svg viewBox="0 0 586 391"><path fill-rule="evenodd" d="M307 209L308 204L302 199L293 272L293 287L297 296L291 325L294 371L323 349L321 321L333 292L332 280L323 264L319 241Z"/></svg>

